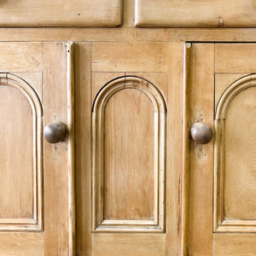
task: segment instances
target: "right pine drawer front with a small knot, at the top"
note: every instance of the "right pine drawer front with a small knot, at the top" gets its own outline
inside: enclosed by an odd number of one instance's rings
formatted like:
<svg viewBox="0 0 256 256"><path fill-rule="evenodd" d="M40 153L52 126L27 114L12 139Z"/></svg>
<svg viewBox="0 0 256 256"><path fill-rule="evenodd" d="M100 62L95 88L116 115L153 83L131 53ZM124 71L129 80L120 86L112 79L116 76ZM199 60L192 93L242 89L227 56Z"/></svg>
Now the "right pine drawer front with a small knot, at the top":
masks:
<svg viewBox="0 0 256 256"><path fill-rule="evenodd" d="M249 0L136 0L139 27L255 27L255 3Z"/></svg>

